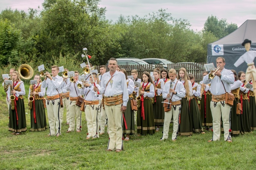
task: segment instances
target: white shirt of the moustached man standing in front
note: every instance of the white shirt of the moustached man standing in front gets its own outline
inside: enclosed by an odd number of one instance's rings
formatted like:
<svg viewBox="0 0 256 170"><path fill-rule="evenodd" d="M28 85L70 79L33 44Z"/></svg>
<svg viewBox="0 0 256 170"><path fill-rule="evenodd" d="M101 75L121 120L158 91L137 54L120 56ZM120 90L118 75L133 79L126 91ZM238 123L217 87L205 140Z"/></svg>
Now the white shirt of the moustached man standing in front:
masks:
<svg viewBox="0 0 256 170"><path fill-rule="evenodd" d="M111 76L109 72L106 72L102 75L102 81L101 86L99 89L100 94L104 94L105 96L114 96L118 94L123 94L123 106L127 105L127 102L129 100L128 90L127 90L127 84L126 84L126 78L125 75L121 72L115 72L113 75L113 78L111 79L111 83L108 81L110 80ZM106 87L106 84L108 83L108 86Z"/></svg>

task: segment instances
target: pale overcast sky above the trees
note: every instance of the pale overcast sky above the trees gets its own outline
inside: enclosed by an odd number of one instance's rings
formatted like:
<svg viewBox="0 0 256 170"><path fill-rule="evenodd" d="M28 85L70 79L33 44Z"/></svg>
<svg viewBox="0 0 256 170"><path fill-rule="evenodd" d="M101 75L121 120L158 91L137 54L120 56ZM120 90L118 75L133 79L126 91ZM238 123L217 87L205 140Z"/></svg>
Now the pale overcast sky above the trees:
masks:
<svg viewBox="0 0 256 170"><path fill-rule="evenodd" d="M28 11L28 8L42 9L44 0L0 0L0 10L6 7ZM208 16L226 18L228 23L239 27L247 19L256 19L255 0L102 0L100 7L106 7L106 18L116 21L123 16L143 17L148 13L166 9L175 19L187 19L191 29L200 31Z"/></svg>

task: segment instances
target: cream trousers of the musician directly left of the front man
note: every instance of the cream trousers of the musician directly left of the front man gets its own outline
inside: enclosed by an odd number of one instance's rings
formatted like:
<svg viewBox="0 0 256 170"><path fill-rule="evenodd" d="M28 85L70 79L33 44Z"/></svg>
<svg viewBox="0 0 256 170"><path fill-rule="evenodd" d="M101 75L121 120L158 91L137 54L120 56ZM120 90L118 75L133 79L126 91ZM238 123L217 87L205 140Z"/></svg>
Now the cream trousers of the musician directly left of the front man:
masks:
<svg viewBox="0 0 256 170"><path fill-rule="evenodd" d="M87 121L87 137L99 137L98 112L99 104L84 105L84 112Z"/></svg>

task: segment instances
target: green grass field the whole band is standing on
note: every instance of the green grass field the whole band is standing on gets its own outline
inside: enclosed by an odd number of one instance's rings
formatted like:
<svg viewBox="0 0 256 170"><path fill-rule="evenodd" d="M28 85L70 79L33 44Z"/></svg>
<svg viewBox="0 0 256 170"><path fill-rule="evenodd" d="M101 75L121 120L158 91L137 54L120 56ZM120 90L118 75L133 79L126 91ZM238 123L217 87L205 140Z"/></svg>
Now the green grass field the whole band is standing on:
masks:
<svg viewBox="0 0 256 170"><path fill-rule="evenodd" d="M5 97L0 97L0 169L255 169L255 131L232 138L233 143L224 142L223 135L220 141L207 143L212 132L160 142L161 128L151 136L131 136L124 142L124 151L116 153L105 151L107 134L85 139L84 114L81 133L65 133L65 115L58 138L47 137L49 129L29 132L27 98L25 106L28 130L20 136L11 135ZM171 133L172 124L169 136Z"/></svg>

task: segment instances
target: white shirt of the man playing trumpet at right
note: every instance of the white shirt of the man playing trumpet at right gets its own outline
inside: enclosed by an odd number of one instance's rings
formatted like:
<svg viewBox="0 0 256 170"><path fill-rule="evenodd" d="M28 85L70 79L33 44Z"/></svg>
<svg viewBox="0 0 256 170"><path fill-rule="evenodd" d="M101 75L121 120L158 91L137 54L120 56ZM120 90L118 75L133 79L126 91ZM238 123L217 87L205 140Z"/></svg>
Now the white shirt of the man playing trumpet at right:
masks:
<svg viewBox="0 0 256 170"><path fill-rule="evenodd" d="M227 92L231 92L230 84L233 84L235 81L234 74L230 70L223 69L221 71L221 80L225 86ZM204 76L203 82L205 84L211 83L211 93L213 95L222 95L225 94L223 84L218 76L215 76L213 79L209 79L208 75Z"/></svg>

